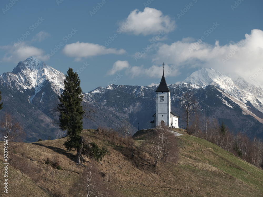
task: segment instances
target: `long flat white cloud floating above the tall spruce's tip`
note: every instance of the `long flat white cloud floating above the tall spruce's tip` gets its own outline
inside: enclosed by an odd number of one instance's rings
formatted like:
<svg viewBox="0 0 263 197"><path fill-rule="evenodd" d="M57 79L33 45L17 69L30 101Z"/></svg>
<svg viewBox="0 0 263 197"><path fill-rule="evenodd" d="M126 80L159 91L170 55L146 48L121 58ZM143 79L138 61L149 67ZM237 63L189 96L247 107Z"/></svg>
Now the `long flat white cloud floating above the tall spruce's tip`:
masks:
<svg viewBox="0 0 263 197"><path fill-rule="evenodd" d="M87 58L97 55L104 54L124 54L126 51L124 49L113 49L113 48L105 48L105 46L101 46L93 43L84 43L84 42L76 42L72 44L65 45L63 52L65 55L74 57L75 61L80 61L81 58Z"/></svg>

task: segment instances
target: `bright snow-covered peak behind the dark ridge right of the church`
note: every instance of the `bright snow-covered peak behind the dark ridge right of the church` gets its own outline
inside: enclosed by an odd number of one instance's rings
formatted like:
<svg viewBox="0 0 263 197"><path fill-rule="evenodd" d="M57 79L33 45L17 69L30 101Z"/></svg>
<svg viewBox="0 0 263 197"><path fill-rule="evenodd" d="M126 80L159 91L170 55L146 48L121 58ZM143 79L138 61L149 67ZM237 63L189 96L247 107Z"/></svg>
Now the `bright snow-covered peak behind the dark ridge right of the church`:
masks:
<svg viewBox="0 0 263 197"><path fill-rule="evenodd" d="M226 76L212 68L203 68L192 73L183 83L199 86L214 85L246 105L263 112L263 85L256 86L238 75Z"/></svg>

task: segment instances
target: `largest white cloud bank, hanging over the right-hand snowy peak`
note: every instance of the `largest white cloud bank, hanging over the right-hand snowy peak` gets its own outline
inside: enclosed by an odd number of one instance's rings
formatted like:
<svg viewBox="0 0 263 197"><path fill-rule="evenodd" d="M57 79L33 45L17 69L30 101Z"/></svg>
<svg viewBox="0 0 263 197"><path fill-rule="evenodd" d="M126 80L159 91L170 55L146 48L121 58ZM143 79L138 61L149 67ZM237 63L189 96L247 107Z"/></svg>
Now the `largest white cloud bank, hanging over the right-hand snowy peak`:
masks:
<svg viewBox="0 0 263 197"><path fill-rule="evenodd" d="M245 34L245 39L239 42L230 42L226 45L215 45L203 42L193 42L186 38L171 45L160 44L153 61L160 63L165 59L166 64L175 64L179 67L190 66L198 68L213 68L223 73L234 72L246 80L262 68L263 62L263 31L251 30ZM255 79L263 82L263 73Z"/></svg>

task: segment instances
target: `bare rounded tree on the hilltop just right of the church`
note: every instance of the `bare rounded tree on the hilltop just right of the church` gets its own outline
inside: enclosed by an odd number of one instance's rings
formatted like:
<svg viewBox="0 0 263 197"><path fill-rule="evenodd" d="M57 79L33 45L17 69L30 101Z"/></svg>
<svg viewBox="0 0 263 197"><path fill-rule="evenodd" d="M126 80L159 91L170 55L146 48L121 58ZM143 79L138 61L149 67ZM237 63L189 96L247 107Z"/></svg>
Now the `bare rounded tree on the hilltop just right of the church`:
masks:
<svg viewBox="0 0 263 197"><path fill-rule="evenodd" d="M190 116L191 116L191 114L196 113L196 111L198 109L196 99L194 97L193 92L184 93L179 98L179 102L180 102L182 108L185 110L184 118L186 119L186 130L188 130L189 122L190 122Z"/></svg>

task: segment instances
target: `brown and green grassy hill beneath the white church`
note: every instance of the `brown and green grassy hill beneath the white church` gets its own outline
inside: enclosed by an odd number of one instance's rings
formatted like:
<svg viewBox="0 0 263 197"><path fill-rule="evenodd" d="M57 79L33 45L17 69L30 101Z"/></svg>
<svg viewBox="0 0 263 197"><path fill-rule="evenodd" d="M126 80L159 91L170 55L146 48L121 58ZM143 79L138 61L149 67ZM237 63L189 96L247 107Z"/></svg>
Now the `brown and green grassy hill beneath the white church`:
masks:
<svg viewBox="0 0 263 197"><path fill-rule="evenodd" d="M121 196L263 196L263 170L203 139L183 135L177 137L178 162L156 168L138 168L125 156L125 145L114 144L95 133L84 130L90 142L106 147L106 155L98 168L111 177L110 184ZM135 134L135 148L151 130ZM74 163L75 152L67 152L65 138L35 143L21 143L9 151L8 196L70 196L72 185L87 168ZM3 147L3 142L0 142ZM57 158L61 170L45 164L47 158ZM1 148L3 161L3 148ZM88 164L88 160L84 165ZM3 183L3 162L0 163ZM1 189L3 194L3 187ZM3 195L5 196L5 195Z"/></svg>

